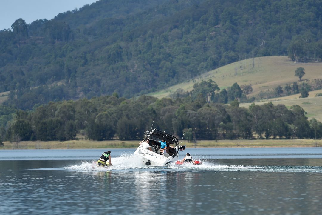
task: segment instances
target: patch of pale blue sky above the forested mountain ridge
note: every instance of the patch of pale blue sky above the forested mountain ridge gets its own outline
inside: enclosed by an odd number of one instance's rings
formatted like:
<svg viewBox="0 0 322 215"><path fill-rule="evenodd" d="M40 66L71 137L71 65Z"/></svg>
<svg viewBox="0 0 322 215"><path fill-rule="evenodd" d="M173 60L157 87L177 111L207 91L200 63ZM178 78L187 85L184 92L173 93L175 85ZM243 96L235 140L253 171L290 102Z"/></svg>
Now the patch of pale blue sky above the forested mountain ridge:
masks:
<svg viewBox="0 0 322 215"><path fill-rule="evenodd" d="M0 30L11 28L23 18L27 24L37 19L52 19L56 15L91 4L98 0L0 0Z"/></svg>

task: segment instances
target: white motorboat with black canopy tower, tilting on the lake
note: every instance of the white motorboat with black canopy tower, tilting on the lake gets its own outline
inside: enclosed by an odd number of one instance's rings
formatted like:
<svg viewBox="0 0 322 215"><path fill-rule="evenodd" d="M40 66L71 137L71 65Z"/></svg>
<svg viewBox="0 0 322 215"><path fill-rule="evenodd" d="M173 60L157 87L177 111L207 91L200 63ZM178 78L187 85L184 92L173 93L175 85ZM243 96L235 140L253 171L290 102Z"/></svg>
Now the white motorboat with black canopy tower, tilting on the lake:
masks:
<svg viewBox="0 0 322 215"><path fill-rule="evenodd" d="M147 166L165 166L172 162L177 161L179 151L185 150L185 146L181 146L178 139L166 132L162 132L157 129L153 129L150 132L144 132L146 138L144 141L149 140L150 149L145 149L141 146L137 147L134 154L141 157L142 164ZM159 141L164 140L170 143L170 147L167 149L168 153L160 154Z"/></svg>

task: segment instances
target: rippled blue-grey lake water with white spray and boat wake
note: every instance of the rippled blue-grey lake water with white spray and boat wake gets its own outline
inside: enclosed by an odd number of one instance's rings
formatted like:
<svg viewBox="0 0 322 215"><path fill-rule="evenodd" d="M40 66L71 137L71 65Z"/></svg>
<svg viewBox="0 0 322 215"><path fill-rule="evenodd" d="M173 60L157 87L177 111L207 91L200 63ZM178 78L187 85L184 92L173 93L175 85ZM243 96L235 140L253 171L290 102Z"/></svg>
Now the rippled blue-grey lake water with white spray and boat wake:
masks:
<svg viewBox="0 0 322 215"><path fill-rule="evenodd" d="M186 149L204 164L161 168L111 149L93 169L106 150L0 150L0 214L322 214L322 148Z"/></svg>

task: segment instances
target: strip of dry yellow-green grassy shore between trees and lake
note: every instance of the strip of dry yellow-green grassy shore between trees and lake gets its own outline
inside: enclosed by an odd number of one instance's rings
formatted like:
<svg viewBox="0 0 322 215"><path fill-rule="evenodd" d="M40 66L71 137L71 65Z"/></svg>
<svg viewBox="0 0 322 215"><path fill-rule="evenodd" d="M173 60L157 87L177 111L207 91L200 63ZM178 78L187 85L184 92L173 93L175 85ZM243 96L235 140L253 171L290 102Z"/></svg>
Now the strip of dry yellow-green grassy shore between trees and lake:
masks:
<svg viewBox="0 0 322 215"><path fill-rule="evenodd" d="M4 149L103 149L103 148L137 148L140 141L21 141L18 147L15 142L4 142ZM313 139L256 139L256 140L201 140L196 144L183 141L181 145L187 148L268 148L268 147L322 147L322 140Z"/></svg>

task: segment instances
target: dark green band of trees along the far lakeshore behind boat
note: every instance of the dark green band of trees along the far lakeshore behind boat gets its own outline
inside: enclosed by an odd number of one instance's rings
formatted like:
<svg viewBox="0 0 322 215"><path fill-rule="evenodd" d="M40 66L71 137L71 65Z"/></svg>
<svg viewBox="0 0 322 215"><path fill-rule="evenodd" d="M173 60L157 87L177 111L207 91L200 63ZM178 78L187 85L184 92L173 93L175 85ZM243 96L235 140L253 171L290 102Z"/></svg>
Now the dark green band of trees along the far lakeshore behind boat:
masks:
<svg viewBox="0 0 322 215"><path fill-rule="evenodd" d="M207 83L216 86L209 80ZM207 84L205 84L207 85ZM199 90L198 90L199 89ZM72 140L77 134L90 140L139 140L154 127L194 139L322 138L322 123L305 116L298 105L251 104L239 107L210 98L218 89L201 91L197 84L185 97L157 99L139 96L126 99L117 93L77 101L50 102L31 111L17 110L0 127L2 141ZM232 88L231 88L232 89ZM228 91L229 92L229 91ZM229 94L229 93L228 93Z"/></svg>

